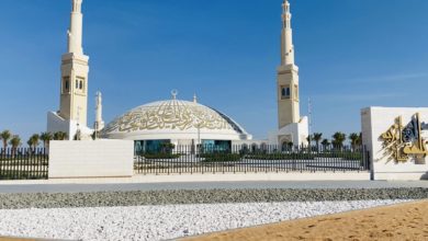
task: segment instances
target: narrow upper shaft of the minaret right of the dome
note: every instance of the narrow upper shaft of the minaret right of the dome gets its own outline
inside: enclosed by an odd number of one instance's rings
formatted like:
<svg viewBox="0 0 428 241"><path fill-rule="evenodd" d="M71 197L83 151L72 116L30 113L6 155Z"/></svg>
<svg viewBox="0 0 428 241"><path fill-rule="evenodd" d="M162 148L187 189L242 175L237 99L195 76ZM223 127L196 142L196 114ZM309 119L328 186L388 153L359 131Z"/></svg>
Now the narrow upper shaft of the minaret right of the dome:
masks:
<svg viewBox="0 0 428 241"><path fill-rule="evenodd" d="M293 31L291 28L290 2L282 4L281 65L294 65Z"/></svg>

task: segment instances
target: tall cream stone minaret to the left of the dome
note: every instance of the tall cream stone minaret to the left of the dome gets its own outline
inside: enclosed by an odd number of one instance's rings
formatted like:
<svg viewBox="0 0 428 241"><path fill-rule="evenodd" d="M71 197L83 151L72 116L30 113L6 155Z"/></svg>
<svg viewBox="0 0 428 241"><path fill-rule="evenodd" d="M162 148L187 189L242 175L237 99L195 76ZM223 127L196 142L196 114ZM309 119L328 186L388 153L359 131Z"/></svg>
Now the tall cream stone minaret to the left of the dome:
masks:
<svg viewBox="0 0 428 241"><path fill-rule="evenodd" d="M68 53L61 58L59 116L87 126L89 57L82 49L82 0L72 0Z"/></svg>

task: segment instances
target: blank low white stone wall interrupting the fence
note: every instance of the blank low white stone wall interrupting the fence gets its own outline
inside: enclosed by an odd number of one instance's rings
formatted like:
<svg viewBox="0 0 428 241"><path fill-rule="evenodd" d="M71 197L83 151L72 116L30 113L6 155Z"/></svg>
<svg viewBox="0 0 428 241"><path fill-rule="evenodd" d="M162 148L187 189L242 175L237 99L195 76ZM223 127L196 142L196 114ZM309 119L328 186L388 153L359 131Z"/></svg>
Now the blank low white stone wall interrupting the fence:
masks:
<svg viewBox="0 0 428 241"><path fill-rule="evenodd" d="M134 141L50 141L49 179L119 177L134 174Z"/></svg>

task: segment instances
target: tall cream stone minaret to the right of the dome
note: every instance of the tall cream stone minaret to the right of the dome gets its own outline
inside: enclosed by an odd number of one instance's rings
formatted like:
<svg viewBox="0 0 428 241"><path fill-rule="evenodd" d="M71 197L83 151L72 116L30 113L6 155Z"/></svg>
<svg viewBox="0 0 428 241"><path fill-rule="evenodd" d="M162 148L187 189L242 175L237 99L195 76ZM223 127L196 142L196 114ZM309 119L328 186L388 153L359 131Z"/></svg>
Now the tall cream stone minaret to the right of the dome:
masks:
<svg viewBox="0 0 428 241"><path fill-rule="evenodd" d="M293 31L290 2L284 0L281 33L281 66L278 68L278 123L279 128L300 122L299 68L294 65Z"/></svg>

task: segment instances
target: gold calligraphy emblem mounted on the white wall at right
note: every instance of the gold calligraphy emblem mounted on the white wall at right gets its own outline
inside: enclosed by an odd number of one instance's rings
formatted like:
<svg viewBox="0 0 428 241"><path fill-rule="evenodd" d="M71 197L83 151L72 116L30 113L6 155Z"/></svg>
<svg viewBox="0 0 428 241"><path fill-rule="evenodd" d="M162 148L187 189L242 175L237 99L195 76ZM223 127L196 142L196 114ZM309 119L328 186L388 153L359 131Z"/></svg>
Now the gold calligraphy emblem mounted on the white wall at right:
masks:
<svg viewBox="0 0 428 241"><path fill-rule="evenodd" d="M410 159L420 160L428 156L428 124L420 122L419 113L412 117L410 123L403 125L402 116L386 133L381 135L386 152L396 162L407 162Z"/></svg>

